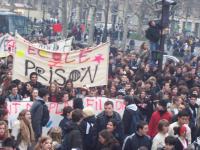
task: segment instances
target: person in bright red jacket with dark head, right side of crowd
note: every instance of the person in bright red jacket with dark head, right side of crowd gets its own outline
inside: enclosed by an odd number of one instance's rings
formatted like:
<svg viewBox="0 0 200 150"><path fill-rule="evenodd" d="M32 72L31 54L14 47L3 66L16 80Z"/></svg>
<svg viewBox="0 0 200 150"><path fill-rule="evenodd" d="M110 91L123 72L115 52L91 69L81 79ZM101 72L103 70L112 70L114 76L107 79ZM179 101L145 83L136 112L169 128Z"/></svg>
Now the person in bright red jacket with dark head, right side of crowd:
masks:
<svg viewBox="0 0 200 150"><path fill-rule="evenodd" d="M167 103L167 100L160 100L157 105L157 111L151 116L148 135L152 138L158 133L157 129L160 120L165 119L170 122L172 119L172 114L167 111Z"/></svg>

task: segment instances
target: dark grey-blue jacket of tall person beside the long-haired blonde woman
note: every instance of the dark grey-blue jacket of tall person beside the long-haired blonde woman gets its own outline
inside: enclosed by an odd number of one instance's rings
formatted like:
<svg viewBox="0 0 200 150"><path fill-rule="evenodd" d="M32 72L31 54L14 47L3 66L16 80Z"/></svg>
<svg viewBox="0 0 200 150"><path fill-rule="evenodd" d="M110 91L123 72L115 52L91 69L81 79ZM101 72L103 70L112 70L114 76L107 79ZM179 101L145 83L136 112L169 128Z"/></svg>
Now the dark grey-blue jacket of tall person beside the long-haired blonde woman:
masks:
<svg viewBox="0 0 200 150"><path fill-rule="evenodd" d="M45 104L45 101L41 98L38 98L33 103L30 112L33 131L37 140L42 135L42 127L45 126L49 121L49 110Z"/></svg>

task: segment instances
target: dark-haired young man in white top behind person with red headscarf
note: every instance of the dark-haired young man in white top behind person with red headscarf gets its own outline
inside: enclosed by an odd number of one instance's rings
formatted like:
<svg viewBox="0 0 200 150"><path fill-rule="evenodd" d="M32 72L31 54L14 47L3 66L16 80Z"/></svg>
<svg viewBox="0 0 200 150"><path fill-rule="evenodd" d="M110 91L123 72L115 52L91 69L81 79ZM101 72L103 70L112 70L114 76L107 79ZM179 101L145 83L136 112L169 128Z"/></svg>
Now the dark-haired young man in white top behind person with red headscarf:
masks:
<svg viewBox="0 0 200 150"><path fill-rule="evenodd" d="M188 122L189 122L188 112L185 111L185 110L180 111L178 113L178 121L169 125L169 132L168 132L169 135L177 137L174 134L174 128L175 127L181 127L182 125L185 125L185 127L186 127L186 139L188 140L188 144L191 144L191 129L188 126Z"/></svg>

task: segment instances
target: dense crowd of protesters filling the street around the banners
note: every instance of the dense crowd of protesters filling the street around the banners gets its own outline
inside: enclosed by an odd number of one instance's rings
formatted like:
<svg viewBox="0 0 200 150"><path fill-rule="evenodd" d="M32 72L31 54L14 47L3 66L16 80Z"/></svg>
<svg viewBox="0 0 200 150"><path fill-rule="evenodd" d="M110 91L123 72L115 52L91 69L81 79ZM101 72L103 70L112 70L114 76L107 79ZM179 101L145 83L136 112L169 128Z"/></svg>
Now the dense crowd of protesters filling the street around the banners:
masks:
<svg viewBox="0 0 200 150"><path fill-rule="evenodd" d="M155 41L154 41L155 42ZM155 43L151 43L155 48ZM32 72L30 81L12 80L13 57L0 59L0 147L20 150L185 150L200 136L200 76L197 56L162 70L149 63L151 51L143 43L136 53L111 47L108 85L75 88L48 87ZM95 114L84 108L83 98L107 97L124 100L124 113L112 101ZM7 102L32 101L9 126ZM46 102L72 101L63 109L63 119L44 136L49 121Z"/></svg>

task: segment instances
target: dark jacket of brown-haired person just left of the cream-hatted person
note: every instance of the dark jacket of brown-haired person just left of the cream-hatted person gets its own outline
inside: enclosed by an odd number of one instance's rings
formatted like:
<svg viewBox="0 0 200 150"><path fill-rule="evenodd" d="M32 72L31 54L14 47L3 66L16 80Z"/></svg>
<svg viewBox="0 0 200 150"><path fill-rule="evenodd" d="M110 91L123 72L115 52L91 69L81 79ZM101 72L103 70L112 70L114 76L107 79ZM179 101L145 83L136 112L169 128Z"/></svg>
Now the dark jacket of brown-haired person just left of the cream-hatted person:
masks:
<svg viewBox="0 0 200 150"><path fill-rule="evenodd" d="M70 121L65 128L62 150L83 149L81 131L77 123Z"/></svg>

